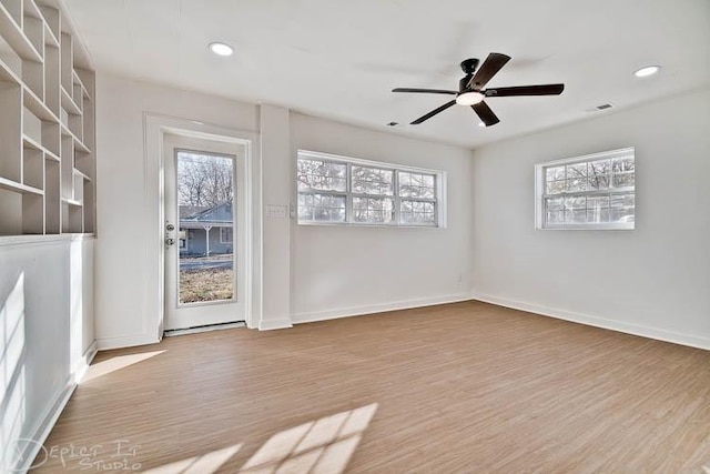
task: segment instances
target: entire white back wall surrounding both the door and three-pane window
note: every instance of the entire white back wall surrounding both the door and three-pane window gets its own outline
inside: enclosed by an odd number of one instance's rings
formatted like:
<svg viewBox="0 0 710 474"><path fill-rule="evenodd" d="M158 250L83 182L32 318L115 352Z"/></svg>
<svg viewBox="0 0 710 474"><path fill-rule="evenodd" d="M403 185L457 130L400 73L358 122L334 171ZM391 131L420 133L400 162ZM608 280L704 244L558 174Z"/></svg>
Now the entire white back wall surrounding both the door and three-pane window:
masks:
<svg viewBox="0 0 710 474"><path fill-rule="evenodd" d="M97 88L100 347L156 340L155 218L149 210L154 203L144 192L155 183L146 180L145 112L261 133L260 327L467 294L470 151L101 73ZM294 200L298 148L447 171L448 229L301 228L287 218L263 215L266 205L287 206Z"/></svg>

